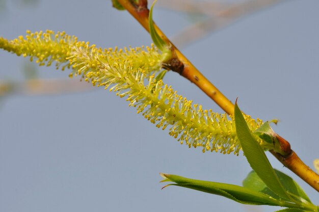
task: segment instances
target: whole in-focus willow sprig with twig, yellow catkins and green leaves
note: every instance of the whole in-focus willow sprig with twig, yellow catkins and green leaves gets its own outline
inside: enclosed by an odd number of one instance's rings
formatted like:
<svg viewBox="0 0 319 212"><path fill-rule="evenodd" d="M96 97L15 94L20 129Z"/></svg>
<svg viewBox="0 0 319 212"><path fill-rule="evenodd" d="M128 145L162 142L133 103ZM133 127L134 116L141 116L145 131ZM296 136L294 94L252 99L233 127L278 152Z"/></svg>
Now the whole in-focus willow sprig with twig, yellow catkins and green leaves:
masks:
<svg viewBox="0 0 319 212"><path fill-rule="evenodd" d="M99 48L89 42L78 41L75 36L65 32L26 31L25 36L14 40L0 37L0 48L17 56L30 57L31 61L40 66L55 63L57 69L70 69L70 77L78 76L93 86L114 91L117 96L126 98L129 106L135 107L137 113L156 127L168 129L169 135L181 144L201 148L203 152L223 154L238 155L243 150L254 170L244 180L243 187L170 174L161 174L163 181L221 195L243 204L288 208L282 211L318 211L318 207L311 203L298 184L274 170L265 156L265 150L272 151L279 159L291 154L291 150L287 154L289 145L274 133L270 122L243 114L237 105L225 100L226 97L217 88L205 84L205 78L153 23L153 7L148 11L147 1L119 0L113 3L118 9L131 12L144 24L155 45L123 49ZM141 11L147 12L147 18ZM189 78L219 105L223 105L221 107L225 114L204 110L200 104L178 95L171 86L165 85L162 79L170 69ZM189 71L196 71L196 77L188 77Z"/></svg>

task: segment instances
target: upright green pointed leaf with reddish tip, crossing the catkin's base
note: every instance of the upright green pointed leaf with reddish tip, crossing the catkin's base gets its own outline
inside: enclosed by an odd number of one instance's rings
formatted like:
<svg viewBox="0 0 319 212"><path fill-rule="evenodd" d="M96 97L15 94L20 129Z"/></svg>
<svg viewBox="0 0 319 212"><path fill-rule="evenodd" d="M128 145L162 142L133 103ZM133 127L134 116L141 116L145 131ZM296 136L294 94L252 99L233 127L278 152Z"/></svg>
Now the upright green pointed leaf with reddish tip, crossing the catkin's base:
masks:
<svg viewBox="0 0 319 212"><path fill-rule="evenodd" d="M251 168L255 170L260 179L270 188L275 194L285 200L293 200L285 191L279 181L273 167L268 161L263 149L251 134L251 131L245 121L245 118L235 104L235 126L238 140L241 143L245 156Z"/></svg>

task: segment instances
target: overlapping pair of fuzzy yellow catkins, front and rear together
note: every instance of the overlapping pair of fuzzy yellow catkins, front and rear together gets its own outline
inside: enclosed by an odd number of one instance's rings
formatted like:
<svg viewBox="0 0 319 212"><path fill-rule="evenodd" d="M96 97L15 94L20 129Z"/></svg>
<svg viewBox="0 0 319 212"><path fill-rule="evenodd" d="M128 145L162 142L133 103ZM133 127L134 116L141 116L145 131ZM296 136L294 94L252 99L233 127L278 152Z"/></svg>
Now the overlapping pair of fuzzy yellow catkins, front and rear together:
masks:
<svg viewBox="0 0 319 212"><path fill-rule="evenodd" d="M78 42L65 33L30 33L13 41L0 38L0 48L17 55L36 57L40 64L53 61L67 63L70 76L82 76L94 86L110 88L126 97L146 119L158 128L168 128L169 134L189 147L238 155L241 149L234 120L226 114L203 110L201 105L178 95L162 80L155 80L165 57L154 47L102 49L88 42ZM65 67L64 66L64 67ZM261 120L245 119L251 130Z"/></svg>

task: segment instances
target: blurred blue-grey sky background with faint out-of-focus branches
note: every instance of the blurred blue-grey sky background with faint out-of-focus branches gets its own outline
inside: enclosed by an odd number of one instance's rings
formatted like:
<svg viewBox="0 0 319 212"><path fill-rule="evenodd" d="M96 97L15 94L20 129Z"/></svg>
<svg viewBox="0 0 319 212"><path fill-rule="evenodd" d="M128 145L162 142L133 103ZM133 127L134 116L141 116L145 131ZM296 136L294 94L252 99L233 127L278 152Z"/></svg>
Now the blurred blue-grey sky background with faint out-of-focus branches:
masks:
<svg viewBox="0 0 319 212"><path fill-rule="evenodd" d="M149 3L150 4L150 3ZM319 157L319 1L159 0L154 20L229 99L274 130L313 167ZM0 36L65 31L101 47L149 45L111 1L0 0ZM246 158L189 149L125 99L0 51L0 211L275 211L169 187L159 172L241 185ZM165 83L222 110L178 74ZM270 155L272 165L318 193Z"/></svg>

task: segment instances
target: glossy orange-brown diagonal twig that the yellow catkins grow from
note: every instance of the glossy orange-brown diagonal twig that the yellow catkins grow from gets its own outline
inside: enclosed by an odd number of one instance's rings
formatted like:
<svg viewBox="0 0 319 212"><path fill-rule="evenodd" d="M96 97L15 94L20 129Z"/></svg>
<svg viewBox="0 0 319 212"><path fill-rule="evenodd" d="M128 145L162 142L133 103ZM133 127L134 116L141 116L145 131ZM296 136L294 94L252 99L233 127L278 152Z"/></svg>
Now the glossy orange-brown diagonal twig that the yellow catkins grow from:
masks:
<svg viewBox="0 0 319 212"><path fill-rule="evenodd" d="M141 4L135 4L134 1L118 0L118 2L132 15L141 25L149 32L148 26L148 9L145 0ZM234 113L234 105L231 103L214 85L212 85L199 70L174 46L174 44L166 37L166 35L154 25L159 36L172 46L173 59L170 63L171 68L178 70L179 74L188 78L192 83L196 84L204 93L214 100L227 114ZM181 64L182 63L182 66ZM319 192L319 175L306 166L298 157L298 155L290 149L290 144L282 137L277 135L280 142L281 154L271 151L276 158L288 169L297 174L311 187Z"/></svg>

